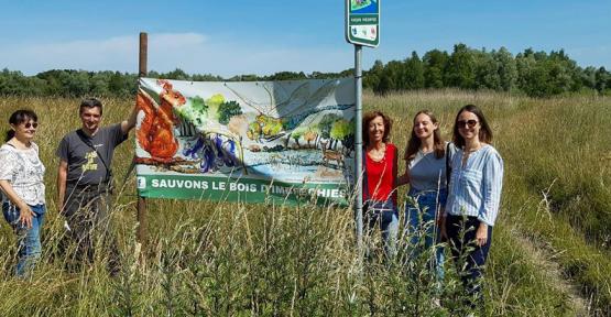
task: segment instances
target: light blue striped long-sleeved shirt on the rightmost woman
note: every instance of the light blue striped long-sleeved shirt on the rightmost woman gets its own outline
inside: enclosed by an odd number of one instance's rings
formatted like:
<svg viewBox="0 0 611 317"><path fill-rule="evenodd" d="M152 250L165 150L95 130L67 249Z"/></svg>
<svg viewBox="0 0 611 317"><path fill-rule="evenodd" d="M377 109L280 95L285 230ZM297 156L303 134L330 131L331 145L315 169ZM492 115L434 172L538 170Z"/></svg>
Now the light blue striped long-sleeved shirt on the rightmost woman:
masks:
<svg viewBox="0 0 611 317"><path fill-rule="evenodd" d="M451 160L446 214L473 216L494 226L503 187L503 158L492 145L472 152L462 167L462 150Z"/></svg>

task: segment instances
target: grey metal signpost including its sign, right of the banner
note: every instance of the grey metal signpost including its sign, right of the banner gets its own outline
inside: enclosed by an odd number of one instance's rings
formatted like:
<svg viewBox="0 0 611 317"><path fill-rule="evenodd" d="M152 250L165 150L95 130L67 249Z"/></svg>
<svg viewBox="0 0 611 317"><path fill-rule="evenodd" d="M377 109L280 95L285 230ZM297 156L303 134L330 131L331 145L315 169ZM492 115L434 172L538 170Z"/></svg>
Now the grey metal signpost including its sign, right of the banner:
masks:
<svg viewBox="0 0 611 317"><path fill-rule="evenodd" d="M354 94L357 113L354 116L354 220L357 222L357 248L362 250L363 199L362 199L362 46L378 47L380 44L380 0L346 0L346 41L354 45Z"/></svg>

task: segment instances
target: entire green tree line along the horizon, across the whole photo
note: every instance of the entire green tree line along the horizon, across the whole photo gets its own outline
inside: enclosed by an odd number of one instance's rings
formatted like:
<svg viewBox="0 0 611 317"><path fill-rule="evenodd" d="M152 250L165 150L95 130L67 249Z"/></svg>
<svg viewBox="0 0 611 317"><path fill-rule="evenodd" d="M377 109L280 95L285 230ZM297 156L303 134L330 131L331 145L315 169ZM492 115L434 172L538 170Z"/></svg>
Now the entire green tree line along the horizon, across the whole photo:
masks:
<svg viewBox="0 0 611 317"><path fill-rule="evenodd" d="M211 74L187 74L182 69L168 73L150 72L152 78L194 81L252 81L352 76L352 69L340 73L280 72L269 76L238 75L222 78ZM0 72L0 96L134 96L137 74L120 72L86 72L52 69L34 76L7 68ZM515 56L505 47L498 51L476 50L456 44L451 53L439 50L416 52L403 61L383 64L375 61L363 72L363 88L377 95L414 89L459 88L525 94L550 97L561 94L611 95L611 73L604 67L579 67L564 50L535 52L527 48Z"/></svg>

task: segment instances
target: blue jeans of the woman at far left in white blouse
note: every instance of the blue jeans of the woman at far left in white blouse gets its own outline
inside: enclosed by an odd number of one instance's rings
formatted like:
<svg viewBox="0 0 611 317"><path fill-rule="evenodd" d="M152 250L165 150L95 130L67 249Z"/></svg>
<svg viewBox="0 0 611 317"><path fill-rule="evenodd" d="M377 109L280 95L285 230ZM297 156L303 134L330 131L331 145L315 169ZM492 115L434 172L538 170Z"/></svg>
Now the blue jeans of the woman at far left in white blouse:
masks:
<svg viewBox="0 0 611 317"><path fill-rule="evenodd" d="M25 276L41 258L41 227L44 222L46 208L44 205L30 206L34 211L32 217L32 228L28 229L19 221L20 209L9 203L2 204L2 214L17 234L17 250L19 261L17 263L15 275Z"/></svg>

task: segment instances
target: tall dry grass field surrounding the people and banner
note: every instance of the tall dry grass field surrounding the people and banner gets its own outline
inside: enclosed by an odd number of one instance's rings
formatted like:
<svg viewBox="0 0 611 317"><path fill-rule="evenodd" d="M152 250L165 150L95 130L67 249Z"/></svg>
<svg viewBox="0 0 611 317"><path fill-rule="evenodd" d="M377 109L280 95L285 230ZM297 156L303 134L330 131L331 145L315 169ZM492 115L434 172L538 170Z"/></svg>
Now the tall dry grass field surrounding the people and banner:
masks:
<svg viewBox="0 0 611 317"><path fill-rule="evenodd" d="M365 109L394 119L392 139L401 150L417 110L436 112L449 136L450 122L466 103L483 108L505 162L485 315L610 315L611 98L456 90L364 96ZM120 276L108 276L105 252L91 267L66 272L65 259L55 252L63 219L55 206L54 151L63 134L79 127L77 105L76 99L0 100L3 121L19 108L40 116L36 142L47 167L48 206L44 254L30 281L12 277L14 236L8 225L0 227L0 315L465 315L451 263L443 307L435 307L424 259L408 265L402 256L385 264L360 262L350 209L150 200L150 238L141 250L133 175L119 190L113 212ZM132 100L105 105L110 123L128 114ZM114 157L119 179L131 147L122 145Z"/></svg>

